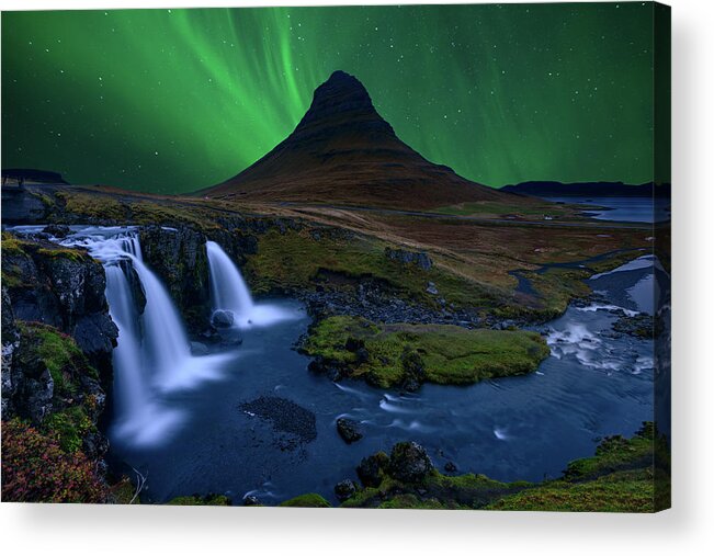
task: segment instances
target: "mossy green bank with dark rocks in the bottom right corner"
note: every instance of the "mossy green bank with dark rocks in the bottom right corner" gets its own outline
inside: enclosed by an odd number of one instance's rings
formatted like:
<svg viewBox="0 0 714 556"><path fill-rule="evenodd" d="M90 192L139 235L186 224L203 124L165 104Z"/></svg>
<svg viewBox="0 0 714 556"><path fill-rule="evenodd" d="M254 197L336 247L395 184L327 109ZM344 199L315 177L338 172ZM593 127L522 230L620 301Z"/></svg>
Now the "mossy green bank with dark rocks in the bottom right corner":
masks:
<svg viewBox="0 0 714 556"><path fill-rule="evenodd" d="M632 439L604 439L594 456L571 462L560 478L539 484L437 469L405 481L385 454L364 458L358 475L363 488L343 508L653 512L669 507L669 445L651 422Z"/></svg>

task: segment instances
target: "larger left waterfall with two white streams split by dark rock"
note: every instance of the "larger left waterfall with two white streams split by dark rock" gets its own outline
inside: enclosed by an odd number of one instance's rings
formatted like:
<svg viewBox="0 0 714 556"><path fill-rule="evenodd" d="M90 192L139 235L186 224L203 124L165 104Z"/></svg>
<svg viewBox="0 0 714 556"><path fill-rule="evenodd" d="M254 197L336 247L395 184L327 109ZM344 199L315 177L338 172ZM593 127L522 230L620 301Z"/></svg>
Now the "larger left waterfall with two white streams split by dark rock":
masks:
<svg viewBox="0 0 714 556"><path fill-rule="evenodd" d="M118 328L112 353L113 431L135 445L167 440L184 420L162 394L218 377L225 355L192 356L181 316L161 281L141 257L138 235L127 228L84 228L61 241L81 246L104 265L110 315ZM139 315L128 272L136 272L146 298Z"/></svg>

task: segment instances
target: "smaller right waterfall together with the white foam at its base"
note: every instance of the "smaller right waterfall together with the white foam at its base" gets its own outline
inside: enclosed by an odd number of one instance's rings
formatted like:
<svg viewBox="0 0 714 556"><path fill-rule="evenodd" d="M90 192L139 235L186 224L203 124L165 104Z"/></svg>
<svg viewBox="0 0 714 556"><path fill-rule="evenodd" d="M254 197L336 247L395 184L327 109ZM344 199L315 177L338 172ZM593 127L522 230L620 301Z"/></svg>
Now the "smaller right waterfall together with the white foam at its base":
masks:
<svg viewBox="0 0 714 556"><path fill-rule="evenodd" d="M291 311L270 304L257 304L238 268L215 241L206 241L213 310L233 313L234 326L268 326L296 318Z"/></svg>

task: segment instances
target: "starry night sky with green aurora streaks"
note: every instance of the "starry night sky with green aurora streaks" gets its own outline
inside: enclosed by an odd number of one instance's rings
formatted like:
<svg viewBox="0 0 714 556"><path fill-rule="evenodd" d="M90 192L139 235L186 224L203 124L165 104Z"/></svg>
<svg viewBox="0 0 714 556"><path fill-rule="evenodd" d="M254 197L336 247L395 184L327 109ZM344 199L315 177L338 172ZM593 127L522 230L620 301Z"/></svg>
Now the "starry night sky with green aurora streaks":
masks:
<svg viewBox="0 0 714 556"><path fill-rule="evenodd" d="M295 127L336 69L428 159L500 186L653 179L653 5L2 14L2 166L180 193Z"/></svg>

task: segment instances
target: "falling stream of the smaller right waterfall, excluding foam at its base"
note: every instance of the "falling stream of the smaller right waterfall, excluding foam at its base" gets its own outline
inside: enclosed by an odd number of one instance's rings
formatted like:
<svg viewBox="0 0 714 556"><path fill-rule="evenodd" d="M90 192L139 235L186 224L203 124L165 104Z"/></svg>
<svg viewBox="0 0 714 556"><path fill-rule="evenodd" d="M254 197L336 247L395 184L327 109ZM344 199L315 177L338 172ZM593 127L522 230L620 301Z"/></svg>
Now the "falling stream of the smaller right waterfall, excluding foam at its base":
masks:
<svg viewBox="0 0 714 556"><path fill-rule="evenodd" d="M211 299L214 310L229 310L235 318L247 317L253 299L238 268L215 241L206 241L211 272Z"/></svg>

